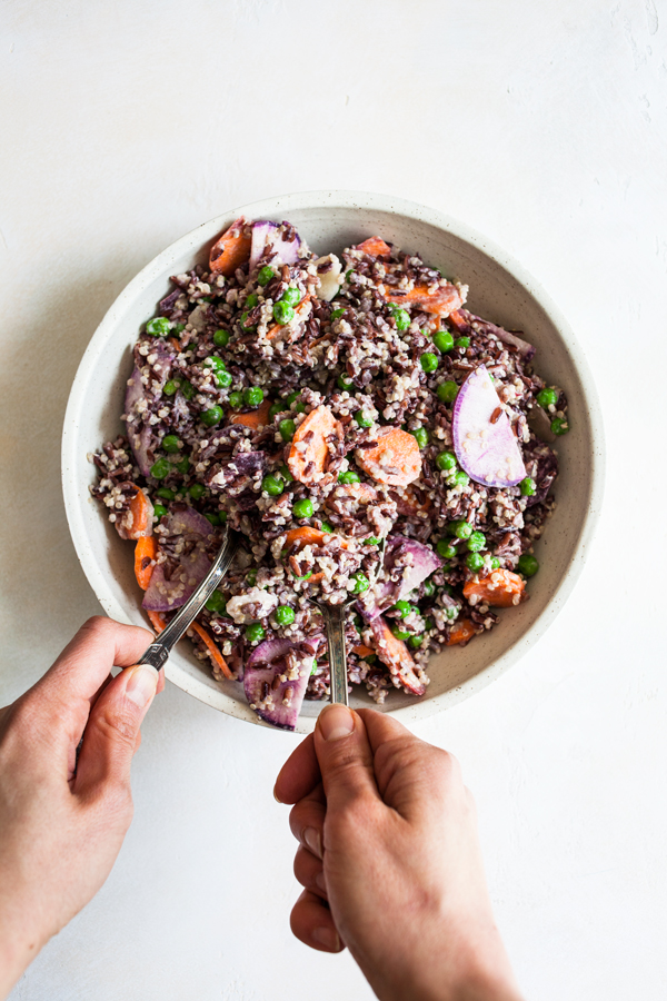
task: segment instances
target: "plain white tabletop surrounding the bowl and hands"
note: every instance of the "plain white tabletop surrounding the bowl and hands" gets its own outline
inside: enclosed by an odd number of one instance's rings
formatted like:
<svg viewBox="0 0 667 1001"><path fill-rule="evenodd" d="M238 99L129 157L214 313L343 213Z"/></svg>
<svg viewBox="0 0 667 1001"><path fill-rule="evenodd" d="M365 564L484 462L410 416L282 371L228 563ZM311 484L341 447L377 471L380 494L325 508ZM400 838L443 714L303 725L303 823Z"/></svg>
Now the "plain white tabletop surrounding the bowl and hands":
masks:
<svg viewBox="0 0 667 1001"><path fill-rule="evenodd" d="M270 195L432 205L564 309L600 392L609 472L556 624L418 732L459 756L476 794L526 995L663 998L665 2L6 0L0 20L0 704L99 611L59 439L81 354L126 283L197 224ZM168 686L116 869L13 1001L369 998L349 955L290 936L293 845L271 789L297 743Z"/></svg>

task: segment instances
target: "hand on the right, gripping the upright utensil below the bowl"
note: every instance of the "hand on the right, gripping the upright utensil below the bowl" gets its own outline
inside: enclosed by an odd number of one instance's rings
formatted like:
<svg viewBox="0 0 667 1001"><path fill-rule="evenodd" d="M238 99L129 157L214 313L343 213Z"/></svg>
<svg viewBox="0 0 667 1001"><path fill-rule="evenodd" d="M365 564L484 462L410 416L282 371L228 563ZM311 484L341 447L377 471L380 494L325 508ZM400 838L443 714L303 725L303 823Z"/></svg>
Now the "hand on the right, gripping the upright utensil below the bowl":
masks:
<svg viewBox="0 0 667 1001"><path fill-rule="evenodd" d="M296 804L298 939L347 945L381 1001L518 1001L455 757L382 713L327 706L275 794Z"/></svg>

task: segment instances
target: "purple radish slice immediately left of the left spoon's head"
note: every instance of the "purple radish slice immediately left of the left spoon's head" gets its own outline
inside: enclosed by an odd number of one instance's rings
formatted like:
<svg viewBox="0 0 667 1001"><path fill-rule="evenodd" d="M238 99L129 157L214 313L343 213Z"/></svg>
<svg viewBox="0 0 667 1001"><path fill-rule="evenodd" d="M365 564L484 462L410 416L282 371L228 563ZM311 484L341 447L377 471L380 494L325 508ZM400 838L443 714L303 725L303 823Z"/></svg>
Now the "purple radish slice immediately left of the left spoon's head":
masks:
<svg viewBox="0 0 667 1001"><path fill-rule="evenodd" d="M167 528L167 533L161 538L178 539L176 545L180 552L169 562L171 567L176 559L176 567L171 569L169 577L166 575L165 564L158 563L155 567L142 602L142 606L149 612L180 608L211 568L206 547L215 532L203 515L187 507L168 515L162 526Z"/></svg>

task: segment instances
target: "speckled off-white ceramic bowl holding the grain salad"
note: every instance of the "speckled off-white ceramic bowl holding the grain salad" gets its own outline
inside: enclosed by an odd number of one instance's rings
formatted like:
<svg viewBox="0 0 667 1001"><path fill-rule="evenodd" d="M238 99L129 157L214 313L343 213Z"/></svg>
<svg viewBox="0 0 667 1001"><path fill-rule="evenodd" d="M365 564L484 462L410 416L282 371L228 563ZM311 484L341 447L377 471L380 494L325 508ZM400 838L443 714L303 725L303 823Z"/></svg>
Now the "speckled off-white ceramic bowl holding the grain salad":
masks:
<svg viewBox="0 0 667 1001"><path fill-rule="evenodd" d="M288 219L319 254L340 251L378 234L406 250L418 250L445 275L470 286L468 305L509 329L524 330L537 346L536 368L563 386L569 399L571 432L558 439L558 505L537 547L540 572L530 581L530 601L500 611L498 625L465 648L448 648L430 661L431 683L422 698L392 692L385 711L411 721L439 712L478 692L531 646L554 621L573 591L597 522L604 483L600 407L585 355L575 336L537 283L507 254L469 227L424 206L355 191L287 195L241 206L177 240L158 255L113 303L92 337L74 379L62 437L62 483L74 546L104 612L121 622L146 625L135 582L132 548L109 524L89 494L93 466L87 454L123 430L126 379L139 328L169 290L169 276L208 259L215 237L233 219ZM242 686L222 684L179 644L167 677L201 702L257 723ZM371 704L362 694L352 705ZM306 702L301 733L311 731L321 703Z"/></svg>

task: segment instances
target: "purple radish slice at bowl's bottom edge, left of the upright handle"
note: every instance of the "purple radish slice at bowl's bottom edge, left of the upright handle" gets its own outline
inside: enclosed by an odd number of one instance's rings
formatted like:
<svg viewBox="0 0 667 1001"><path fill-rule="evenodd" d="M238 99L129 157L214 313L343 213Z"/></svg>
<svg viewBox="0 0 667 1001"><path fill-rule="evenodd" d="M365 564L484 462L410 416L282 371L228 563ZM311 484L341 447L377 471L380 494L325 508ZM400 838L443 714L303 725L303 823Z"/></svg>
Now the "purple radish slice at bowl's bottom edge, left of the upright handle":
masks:
<svg viewBox="0 0 667 1001"><path fill-rule="evenodd" d="M271 663L252 667L251 656L243 672L243 691L250 708L266 723L280 730L295 730L315 658L292 648Z"/></svg>

